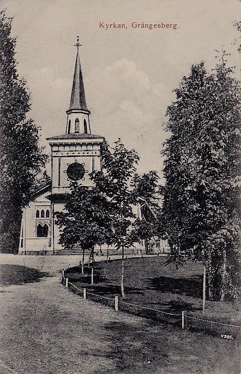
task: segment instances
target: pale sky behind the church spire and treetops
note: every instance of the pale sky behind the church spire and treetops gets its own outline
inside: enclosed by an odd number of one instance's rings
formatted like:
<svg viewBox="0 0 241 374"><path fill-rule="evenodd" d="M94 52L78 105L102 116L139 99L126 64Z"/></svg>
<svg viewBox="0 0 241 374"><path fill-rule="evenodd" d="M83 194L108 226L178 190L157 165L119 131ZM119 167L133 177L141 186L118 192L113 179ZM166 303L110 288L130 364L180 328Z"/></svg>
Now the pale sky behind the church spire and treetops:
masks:
<svg viewBox="0 0 241 374"><path fill-rule="evenodd" d="M166 108L191 65L202 60L211 70L224 48L240 70L239 0L2 0L2 8L13 17L18 73L48 153L45 138L65 133L77 35L91 131L135 148L139 173L162 177ZM113 23L125 27L106 29ZM176 26L133 27L141 23Z"/></svg>

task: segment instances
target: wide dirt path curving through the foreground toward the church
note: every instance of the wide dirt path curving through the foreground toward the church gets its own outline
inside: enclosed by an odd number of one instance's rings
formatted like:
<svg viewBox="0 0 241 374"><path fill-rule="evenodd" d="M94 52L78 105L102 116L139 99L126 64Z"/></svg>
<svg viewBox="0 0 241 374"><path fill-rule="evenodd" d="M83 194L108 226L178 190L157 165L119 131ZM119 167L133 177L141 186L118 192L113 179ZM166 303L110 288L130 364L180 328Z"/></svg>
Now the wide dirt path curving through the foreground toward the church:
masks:
<svg viewBox="0 0 241 374"><path fill-rule="evenodd" d="M19 263L20 257L2 257L1 262ZM230 342L83 300L60 283L63 258L51 265L45 259L43 265L41 258L26 260L31 268L49 269L51 276L1 288L3 373L239 373Z"/></svg>

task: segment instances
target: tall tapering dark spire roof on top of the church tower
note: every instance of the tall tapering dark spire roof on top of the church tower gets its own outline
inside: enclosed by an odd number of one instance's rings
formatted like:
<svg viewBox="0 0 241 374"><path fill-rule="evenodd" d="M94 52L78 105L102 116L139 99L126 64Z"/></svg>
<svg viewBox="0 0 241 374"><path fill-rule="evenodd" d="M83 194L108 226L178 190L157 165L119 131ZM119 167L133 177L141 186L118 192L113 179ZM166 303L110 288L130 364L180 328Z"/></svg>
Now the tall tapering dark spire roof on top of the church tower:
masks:
<svg viewBox="0 0 241 374"><path fill-rule="evenodd" d="M73 74L73 85L68 111L70 110L88 111L85 101L84 82L81 71L79 52L76 56L75 73Z"/></svg>

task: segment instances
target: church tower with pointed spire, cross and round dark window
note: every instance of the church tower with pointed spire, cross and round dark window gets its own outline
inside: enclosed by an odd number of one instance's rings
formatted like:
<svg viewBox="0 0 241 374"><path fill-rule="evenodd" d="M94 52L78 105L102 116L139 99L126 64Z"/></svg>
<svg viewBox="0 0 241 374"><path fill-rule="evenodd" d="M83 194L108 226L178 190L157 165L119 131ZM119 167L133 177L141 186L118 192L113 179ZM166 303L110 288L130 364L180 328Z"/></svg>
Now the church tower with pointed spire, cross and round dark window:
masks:
<svg viewBox="0 0 241 374"><path fill-rule="evenodd" d="M64 126L65 134L47 138L51 148L51 216L54 211L62 211L65 204L65 193L69 191L70 181L78 181L85 186L91 186L89 173L101 170L101 146L103 136L91 134L87 109L84 82L79 56L79 37L77 37L77 56L73 73L72 91L69 108L66 111L67 120ZM52 218L52 250L61 250L59 228Z"/></svg>

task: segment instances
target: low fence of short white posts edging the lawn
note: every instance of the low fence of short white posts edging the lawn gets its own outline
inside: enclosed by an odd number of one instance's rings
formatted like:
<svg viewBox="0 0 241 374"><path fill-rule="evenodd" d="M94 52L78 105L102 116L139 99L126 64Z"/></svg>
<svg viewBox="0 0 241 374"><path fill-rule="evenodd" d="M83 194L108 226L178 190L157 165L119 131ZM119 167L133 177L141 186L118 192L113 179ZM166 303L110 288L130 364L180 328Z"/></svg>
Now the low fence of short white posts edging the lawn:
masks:
<svg viewBox="0 0 241 374"><path fill-rule="evenodd" d="M132 302L127 302L120 300L119 295L116 295L115 297L107 297L100 294L96 294L93 292L87 291L86 288L79 288L75 284L69 281L68 277L65 277L64 269L62 270L62 283L64 284L66 289L71 288L73 291L76 291L77 293L83 294L83 298L87 299L87 296L92 296L91 300L93 298L101 299L103 301L108 301L107 305L114 308L116 312L123 311L135 315L140 315L144 317L151 317L154 319L161 319L161 316L167 316L174 318L172 320L172 323L174 325L179 326L182 330L190 329L190 330L205 330L209 333L219 333L220 337L223 339L228 340L234 340L235 343L237 343L237 339L240 338L240 326L234 325L234 324L226 324L221 322L212 321L209 319L199 318L192 315L187 314L187 311L182 310L181 313L171 313L167 311L163 311L160 309L145 307L142 305L133 304ZM92 301L95 301L92 300ZM106 303L104 303L106 305ZM121 308L120 308L121 307ZM146 315L143 315L142 313L138 311L146 311L148 312ZM154 315L155 313L155 315ZM216 329L215 329L216 327ZM221 328L221 331L220 331ZM229 332L227 333L227 329L229 329ZM240 340L240 339L239 339ZM240 342L238 342L240 343Z"/></svg>

